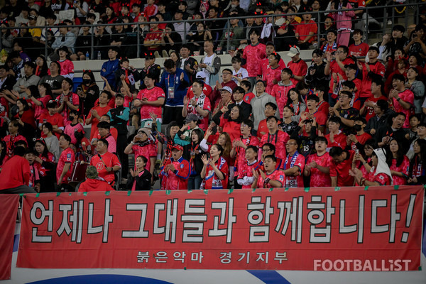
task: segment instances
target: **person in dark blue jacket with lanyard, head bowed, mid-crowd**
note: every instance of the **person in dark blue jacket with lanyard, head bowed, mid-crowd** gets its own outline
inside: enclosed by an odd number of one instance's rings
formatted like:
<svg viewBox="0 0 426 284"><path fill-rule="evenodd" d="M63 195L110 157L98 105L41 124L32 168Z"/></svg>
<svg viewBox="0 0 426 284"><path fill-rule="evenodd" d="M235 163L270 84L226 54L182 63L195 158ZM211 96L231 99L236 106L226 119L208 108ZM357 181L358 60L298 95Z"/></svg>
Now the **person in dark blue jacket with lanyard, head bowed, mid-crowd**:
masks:
<svg viewBox="0 0 426 284"><path fill-rule="evenodd" d="M169 124L170 121L177 121L178 124L182 124L183 97L186 96L187 88L190 85L190 79L186 72L177 68L173 60L166 59L164 61L164 72L157 85L165 93L163 124Z"/></svg>

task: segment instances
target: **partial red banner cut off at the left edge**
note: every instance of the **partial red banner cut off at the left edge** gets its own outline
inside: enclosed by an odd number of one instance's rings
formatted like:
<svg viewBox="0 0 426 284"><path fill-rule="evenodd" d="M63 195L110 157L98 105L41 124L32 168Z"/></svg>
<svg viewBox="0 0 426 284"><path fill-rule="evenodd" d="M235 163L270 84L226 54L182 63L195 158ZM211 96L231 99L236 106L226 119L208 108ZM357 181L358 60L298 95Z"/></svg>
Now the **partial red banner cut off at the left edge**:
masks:
<svg viewBox="0 0 426 284"><path fill-rule="evenodd" d="M0 280L11 278L13 236L19 195L0 195Z"/></svg>

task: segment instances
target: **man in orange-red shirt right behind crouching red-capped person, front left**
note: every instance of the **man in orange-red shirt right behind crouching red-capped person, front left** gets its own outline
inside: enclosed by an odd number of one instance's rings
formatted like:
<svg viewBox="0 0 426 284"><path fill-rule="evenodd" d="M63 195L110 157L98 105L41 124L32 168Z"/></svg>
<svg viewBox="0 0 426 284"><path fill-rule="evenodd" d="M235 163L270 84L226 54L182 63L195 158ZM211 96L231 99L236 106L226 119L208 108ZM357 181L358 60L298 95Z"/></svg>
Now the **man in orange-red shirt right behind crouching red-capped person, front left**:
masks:
<svg viewBox="0 0 426 284"><path fill-rule="evenodd" d="M108 141L104 138L99 139L96 145L97 155L92 157L90 165L94 165L98 172L99 178L103 178L110 185L114 185L114 172L121 169L119 158L108 152Z"/></svg>

